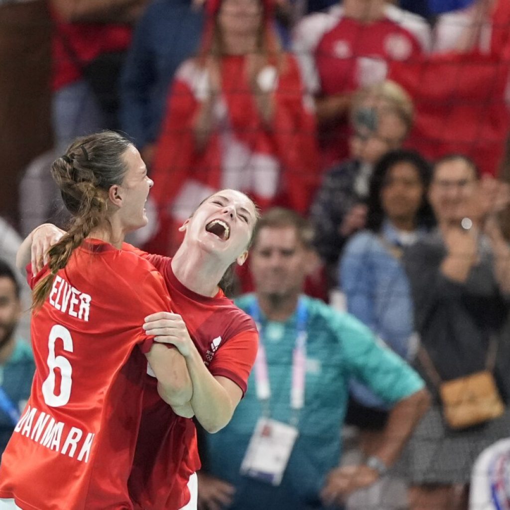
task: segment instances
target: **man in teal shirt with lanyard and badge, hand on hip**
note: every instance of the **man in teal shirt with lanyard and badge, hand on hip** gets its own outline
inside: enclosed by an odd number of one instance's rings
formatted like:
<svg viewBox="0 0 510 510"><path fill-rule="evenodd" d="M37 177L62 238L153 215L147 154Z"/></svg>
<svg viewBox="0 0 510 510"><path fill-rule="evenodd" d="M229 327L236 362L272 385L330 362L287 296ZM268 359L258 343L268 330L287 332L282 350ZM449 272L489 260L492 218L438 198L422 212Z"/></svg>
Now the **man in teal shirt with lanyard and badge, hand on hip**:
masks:
<svg viewBox="0 0 510 510"><path fill-rule="evenodd" d="M397 460L428 406L422 379L365 325L301 294L312 264L311 241L308 222L292 211L272 209L259 221L251 250L256 293L236 300L258 323L259 357L232 421L206 438L208 474L199 478L199 501L206 508L215 503L232 510L339 508L348 494L375 482ZM393 408L385 440L366 463L338 467L351 376ZM281 481L275 472L282 467L271 465L271 447L266 445L266 458L253 460L274 425L261 422L269 428L262 426L252 439L261 417L297 432ZM276 446L274 464L286 455Z"/></svg>

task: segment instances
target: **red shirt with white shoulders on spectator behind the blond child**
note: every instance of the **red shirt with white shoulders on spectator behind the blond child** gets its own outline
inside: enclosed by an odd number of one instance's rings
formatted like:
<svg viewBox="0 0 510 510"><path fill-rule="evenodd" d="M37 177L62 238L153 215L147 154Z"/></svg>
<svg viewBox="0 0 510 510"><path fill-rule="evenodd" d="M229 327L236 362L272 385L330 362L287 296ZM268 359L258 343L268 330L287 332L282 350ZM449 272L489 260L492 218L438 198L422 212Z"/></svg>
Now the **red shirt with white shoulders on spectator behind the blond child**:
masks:
<svg viewBox="0 0 510 510"><path fill-rule="evenodd" d="M352 92L386 78L392 61L413 61L430 48L430 28L421 17L388 5L385 17L366 24L343 8L305 16L295 30L309 90L318 96ZM347 115L321 133L324 165L348 156Z"/></svg>

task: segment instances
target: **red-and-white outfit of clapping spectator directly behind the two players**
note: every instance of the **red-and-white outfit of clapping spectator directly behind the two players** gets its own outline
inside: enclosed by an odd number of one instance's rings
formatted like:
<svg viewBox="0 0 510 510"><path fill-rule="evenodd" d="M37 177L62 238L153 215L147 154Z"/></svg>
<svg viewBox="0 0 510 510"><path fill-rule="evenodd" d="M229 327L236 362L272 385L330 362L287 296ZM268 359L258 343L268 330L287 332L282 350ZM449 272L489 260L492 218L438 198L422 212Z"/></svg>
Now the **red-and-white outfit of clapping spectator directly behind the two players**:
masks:
<svg viewBox="0 0 510 510"><path fill-rule="evenodd" d="M248 65L247 56L222 58L221 94L203 150L196 146L194 129L209 75L198 60L177 70L152 168L160 228L150 250L173 254L180 243L172 223L184 221L203 198L222 188L249 194L262 209L308 210L318 184L318 152L311 100L303 95L296 61L287 55L279 75L273 66L263 74L261 82L274 86L270 127L248 83ZM277 76L275 82L271 76Z"/></svg>

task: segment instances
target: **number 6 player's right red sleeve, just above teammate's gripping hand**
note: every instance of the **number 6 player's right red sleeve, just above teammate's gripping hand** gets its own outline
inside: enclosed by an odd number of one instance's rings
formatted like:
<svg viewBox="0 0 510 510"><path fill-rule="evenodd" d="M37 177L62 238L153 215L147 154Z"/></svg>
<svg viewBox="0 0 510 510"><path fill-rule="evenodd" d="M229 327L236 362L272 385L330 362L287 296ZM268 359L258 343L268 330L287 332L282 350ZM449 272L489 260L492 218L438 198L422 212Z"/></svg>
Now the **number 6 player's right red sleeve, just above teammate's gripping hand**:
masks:
<svg viewBox="0 0 510 510"><path fill-rule="evenodd" d="M156 312L169 312L170 311L170 295L163 282L163 276L158 271L150 271L144 281L139 286L138 295L140 297L138 304L139 310L137 315L141 316L140 333L137 343L144 354L149 352L154 343L153 336L145 335L142 328L143 319L147 315Z"/></svg>

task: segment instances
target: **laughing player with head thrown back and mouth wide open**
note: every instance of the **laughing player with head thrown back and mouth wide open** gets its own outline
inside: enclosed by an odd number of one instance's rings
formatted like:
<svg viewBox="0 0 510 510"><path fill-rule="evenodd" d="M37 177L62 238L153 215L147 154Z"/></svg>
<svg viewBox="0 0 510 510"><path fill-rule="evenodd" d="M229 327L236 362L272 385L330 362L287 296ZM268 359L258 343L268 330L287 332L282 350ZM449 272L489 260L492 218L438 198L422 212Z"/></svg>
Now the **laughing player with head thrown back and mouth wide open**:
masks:
<svg viewBox="0 0 510 510"><path fill-rule="evenodd" d="M190 401L170 408L160 398L161 390L158 394L156 379L147 376L129 482L136 509L196 508L194 473L200 461L190 417L195 415L206 430L215 432L230 421L246 391L257 354L257 329L219 286L233 265L246 260L257 219L258 211L246 195L222 190L204 200L184 223L184 241L173 258L123 245L163 275L173 313L149 316L146 333L179 349L193 384ZM33 259L60 235L53 225L39 227Z"/></svg>

